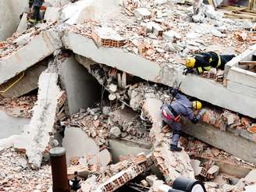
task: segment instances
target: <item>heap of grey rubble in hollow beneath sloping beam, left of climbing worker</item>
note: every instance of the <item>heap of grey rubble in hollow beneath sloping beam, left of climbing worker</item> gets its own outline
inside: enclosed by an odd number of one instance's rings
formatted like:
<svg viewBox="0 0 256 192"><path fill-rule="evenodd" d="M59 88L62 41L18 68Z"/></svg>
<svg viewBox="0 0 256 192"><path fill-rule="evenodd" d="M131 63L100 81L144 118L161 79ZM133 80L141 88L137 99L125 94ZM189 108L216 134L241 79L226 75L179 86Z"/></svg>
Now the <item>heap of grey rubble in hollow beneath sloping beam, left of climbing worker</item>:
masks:
<svg viewBox="0 0 256 192"><path fill-rule="evenodd" d="M126 138L149 143L151 123L142 121L129 108L118 107L87 108L73 114L70 119L61 122L66 126L80 127L89 137L94 138L99 147L108 146L108 139ZM148 129L147 129L148 127Z"/></svg>

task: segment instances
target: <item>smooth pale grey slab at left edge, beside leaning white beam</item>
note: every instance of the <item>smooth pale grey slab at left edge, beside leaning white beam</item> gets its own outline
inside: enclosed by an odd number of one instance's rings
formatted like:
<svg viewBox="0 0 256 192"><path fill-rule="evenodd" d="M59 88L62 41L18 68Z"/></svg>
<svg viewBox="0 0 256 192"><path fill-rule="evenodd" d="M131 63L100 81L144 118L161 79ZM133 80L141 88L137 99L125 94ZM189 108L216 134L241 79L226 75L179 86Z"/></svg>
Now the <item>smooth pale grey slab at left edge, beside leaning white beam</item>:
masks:
<svg viewBox="0 0 256 192"><path fill-rule="evenodd" d="M20 135L23 126L30 123L30 119L22 117L8 116L0 110L0 139L11 137L12 135Z"/></svg>

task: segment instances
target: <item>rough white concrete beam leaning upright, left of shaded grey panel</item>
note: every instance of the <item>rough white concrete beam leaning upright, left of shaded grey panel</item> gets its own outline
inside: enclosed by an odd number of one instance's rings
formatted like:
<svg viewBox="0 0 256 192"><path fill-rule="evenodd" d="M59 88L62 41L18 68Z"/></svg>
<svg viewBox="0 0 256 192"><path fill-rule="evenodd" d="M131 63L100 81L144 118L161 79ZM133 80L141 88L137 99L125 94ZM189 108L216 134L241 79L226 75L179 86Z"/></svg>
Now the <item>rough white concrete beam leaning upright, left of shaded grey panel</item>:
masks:
<svg viewBox="0 0 256 192"><path fill-rule="evenodd" d="M58 74L44 71L38 81L37 102L30 124L24 126L20 140L14 144L15 148L24 148L30 164L34 168L41 165L43 152L46 150L53 132L56 108L60 88L57 85Z"/></svg>

